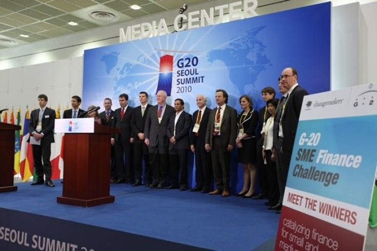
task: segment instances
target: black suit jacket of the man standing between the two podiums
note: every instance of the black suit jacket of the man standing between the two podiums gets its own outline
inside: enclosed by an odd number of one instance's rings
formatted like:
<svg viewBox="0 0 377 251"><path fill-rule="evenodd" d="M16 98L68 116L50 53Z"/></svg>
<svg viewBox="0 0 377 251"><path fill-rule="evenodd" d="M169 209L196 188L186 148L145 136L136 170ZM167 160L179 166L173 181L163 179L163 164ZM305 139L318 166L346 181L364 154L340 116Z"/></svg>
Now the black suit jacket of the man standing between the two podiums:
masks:
<svg viewBox="0 0 377 251"><path fill-rule="evenodd" d="M42 131L44 134L41 139L41 143L53 143L54 140L54 126L55 126L56 112L48 107L45 108L45 112L42 117ZM36 131L39 119L39 108L31 111L30 113L30 122L29 122L29 133L30 135ZM29 140L28 140L29 142Z"/></svg>

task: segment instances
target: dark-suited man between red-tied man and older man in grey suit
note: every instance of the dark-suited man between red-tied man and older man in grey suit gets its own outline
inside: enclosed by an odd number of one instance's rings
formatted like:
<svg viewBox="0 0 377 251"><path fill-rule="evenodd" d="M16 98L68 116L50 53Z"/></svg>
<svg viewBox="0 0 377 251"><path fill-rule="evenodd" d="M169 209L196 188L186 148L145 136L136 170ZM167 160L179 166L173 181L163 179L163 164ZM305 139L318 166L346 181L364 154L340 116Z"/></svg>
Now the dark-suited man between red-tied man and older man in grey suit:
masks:
<svg viewBox="0 0 377 251"><path fill-rule="evenodd" d="M146 186L149 186L152 182L151 179L151 168L149 164L149 151L148 146L144 143L144 127L145 118L148 114L149 109L152 107L148 103L148 93L140 92L139 101L141 106L134 109L134 113L131 118L132 127L132 137L134 138L134 172L135 172L135 183L133 186L141 184L142 178L142 160L144 159L144 177Z"/></svg>

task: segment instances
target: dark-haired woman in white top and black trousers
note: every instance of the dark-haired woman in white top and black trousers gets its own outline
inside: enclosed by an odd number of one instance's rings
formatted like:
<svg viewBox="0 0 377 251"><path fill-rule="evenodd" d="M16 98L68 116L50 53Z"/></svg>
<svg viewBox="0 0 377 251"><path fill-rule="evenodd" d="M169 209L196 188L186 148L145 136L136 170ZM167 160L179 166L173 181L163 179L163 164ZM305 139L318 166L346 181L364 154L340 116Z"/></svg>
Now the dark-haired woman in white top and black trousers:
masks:
<svg viewBox="0 0 377 251"><path fill-rule="evenodd" d="M272 152L273 149L273 128L274 119L276 115L276 108L278 107L279 99L273 98L267 100L267 111L271 115L264 127L264 141L263 141L263 159L267 163L267 180L268 180L268 202L266 203L269 210L279 202L280 192L278 176L276 171L275 156Z"/></svg>

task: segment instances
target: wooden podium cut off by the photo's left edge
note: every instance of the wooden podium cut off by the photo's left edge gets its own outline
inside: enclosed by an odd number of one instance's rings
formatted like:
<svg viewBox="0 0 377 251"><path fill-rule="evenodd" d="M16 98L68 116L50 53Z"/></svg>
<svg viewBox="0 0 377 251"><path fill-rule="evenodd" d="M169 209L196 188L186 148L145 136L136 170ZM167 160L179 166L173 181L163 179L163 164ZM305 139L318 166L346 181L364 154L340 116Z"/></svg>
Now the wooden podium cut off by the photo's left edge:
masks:
<svg viewBox="0 0 377 251"><path fill-rule="evenodd" d="M17 190L13 185L14 176L14 132L21 130L20 126L0 122L0 193Z"/></svg>

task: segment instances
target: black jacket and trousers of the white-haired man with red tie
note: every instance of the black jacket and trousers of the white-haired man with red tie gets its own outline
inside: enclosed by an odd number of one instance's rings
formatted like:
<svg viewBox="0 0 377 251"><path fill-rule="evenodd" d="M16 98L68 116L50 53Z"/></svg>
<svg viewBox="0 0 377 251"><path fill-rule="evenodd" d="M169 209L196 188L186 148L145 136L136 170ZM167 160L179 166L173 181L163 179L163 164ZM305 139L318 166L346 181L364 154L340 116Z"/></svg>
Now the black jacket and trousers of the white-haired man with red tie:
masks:
<svg viewBox="0 0 377 251"><path fill-rule="evenodd" d="M211 153L205 151L205 134L207 132L208 118L210 118L211 109L205 108L200 120L198 134L193 132L195 123L198 119L199 110L193 114L193 126L190 133L190 143L195 148L195 181L196 187L204 191L211 188Z"/></svg>

